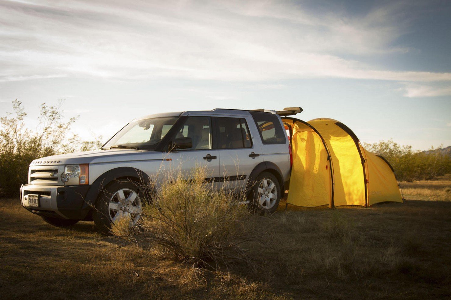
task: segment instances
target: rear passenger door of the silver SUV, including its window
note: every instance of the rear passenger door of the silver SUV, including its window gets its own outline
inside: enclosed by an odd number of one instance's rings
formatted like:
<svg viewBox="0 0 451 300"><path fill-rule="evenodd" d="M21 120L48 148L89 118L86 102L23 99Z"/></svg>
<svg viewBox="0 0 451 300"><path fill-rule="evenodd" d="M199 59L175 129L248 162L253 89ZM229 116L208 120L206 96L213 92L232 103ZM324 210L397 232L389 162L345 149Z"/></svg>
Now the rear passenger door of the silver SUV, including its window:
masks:
<svg viewBox="0 0 451 300"><path fill-rule="evenodd" d="M227 189L241 190L253 168L263 161L258 137L249 130L250 116L214 118L220 178Z"/></svg>

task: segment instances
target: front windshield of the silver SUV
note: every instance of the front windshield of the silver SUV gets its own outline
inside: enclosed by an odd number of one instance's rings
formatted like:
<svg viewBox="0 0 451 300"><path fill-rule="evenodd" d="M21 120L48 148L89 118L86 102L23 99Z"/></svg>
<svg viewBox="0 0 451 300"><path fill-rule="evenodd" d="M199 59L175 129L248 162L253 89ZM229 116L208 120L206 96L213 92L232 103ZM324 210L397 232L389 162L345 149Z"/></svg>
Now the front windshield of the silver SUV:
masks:
<svg viewBox="0 0 451 300"><path fill-rule="evenodd" d="M129 123L116 133L102 149L131 148L154 150L179 117L151 118Z"/></svg>

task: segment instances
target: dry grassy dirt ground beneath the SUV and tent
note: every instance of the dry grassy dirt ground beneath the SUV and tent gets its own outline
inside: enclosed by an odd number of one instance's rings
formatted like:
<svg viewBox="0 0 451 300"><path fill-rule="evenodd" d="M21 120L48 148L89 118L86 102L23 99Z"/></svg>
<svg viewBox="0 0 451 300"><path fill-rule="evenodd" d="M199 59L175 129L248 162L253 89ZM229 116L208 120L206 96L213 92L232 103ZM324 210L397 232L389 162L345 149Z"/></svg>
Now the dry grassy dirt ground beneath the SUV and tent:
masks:
<svg viewBox="0 0 451 300"><path fill-rule="evenodd" d="M0 298L432 299L451 297L451 176L402 183L404 204L256 217L258 268L189 268L92 222L57 228L0 199Z"/></svg>

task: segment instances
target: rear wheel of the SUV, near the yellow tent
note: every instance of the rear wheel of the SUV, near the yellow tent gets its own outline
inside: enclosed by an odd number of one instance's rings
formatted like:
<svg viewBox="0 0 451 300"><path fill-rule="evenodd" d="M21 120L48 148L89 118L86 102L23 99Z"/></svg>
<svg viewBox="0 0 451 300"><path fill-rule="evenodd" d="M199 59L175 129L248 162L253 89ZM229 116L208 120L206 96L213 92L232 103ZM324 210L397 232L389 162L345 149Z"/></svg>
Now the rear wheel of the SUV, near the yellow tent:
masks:
<svg viewBox="0 0 451 300"><path fill-rule="evenodd" d="M258 175L252 188L252 207L261 214L272 214L276 211L281 200L281 187L277 178L269 172Z"/></svg>

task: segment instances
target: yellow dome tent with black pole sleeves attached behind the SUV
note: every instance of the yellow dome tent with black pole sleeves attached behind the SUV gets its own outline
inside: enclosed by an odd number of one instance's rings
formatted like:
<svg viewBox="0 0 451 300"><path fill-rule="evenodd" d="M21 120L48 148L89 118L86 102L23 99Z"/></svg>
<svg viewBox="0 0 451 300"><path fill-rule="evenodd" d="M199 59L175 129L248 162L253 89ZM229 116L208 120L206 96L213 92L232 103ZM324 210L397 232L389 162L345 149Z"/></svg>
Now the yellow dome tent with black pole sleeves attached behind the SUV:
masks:
<svg viewBox="0 0 451 300"><path fill-rule="evenodd" d="M390 164L364 150L349 127L327 118L282 120L293 151L287 203L335 207L402 202Z"/></svg>

